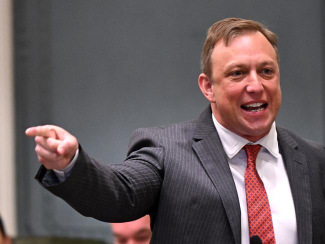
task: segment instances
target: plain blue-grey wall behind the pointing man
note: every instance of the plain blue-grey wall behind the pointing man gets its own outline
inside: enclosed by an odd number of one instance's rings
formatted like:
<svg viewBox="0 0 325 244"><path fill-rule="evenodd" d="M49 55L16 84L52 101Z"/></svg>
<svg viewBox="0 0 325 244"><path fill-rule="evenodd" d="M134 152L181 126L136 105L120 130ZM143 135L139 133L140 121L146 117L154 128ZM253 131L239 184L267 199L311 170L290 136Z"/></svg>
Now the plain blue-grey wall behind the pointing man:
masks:
<svg viewBox="0 0 325 244"><path fill-rule="evenodd" d="M323 0L15 0L18 232L111 240L33 180L35 124L66 128L103 163L125 156L130 133L195 118L207 28L229 16L279 36L283 103L277 124L325 142Z"/></svg>

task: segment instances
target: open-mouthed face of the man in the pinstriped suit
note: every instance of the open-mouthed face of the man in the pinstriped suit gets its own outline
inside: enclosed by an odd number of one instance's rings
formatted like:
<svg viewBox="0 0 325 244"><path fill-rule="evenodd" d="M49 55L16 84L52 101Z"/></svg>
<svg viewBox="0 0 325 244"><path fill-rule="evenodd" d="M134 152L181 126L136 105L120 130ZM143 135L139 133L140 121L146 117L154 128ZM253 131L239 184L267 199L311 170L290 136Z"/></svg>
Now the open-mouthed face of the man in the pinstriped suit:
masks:
<svg viewBox="0 0 325 244"><path fill-rule="evenodd" d="M218 41L211 54L211 102L217 121L256 141L270 129L281 104L277 57L258 31Z"/></svg>

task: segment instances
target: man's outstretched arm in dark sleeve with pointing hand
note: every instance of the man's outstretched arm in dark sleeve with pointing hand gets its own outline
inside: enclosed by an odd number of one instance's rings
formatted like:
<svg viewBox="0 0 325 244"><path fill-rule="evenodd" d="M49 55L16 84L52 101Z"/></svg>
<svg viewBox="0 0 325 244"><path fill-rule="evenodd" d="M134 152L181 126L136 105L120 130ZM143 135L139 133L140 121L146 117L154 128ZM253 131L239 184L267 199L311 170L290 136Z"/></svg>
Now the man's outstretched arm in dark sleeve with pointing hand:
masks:
<svg viewBox="0 0 325 244"><path fill-rule="evenodd" d="M130 221L153 211L163 175L164 148L155 130L138 129L124 163L102 165L90 158L66 130L43 125L30 127L39 161L36 179L85 216L101 221ZM53 170L69 164L79 146L71 174L58 182ZM46 182L45 182L46 181Z"/></svg>

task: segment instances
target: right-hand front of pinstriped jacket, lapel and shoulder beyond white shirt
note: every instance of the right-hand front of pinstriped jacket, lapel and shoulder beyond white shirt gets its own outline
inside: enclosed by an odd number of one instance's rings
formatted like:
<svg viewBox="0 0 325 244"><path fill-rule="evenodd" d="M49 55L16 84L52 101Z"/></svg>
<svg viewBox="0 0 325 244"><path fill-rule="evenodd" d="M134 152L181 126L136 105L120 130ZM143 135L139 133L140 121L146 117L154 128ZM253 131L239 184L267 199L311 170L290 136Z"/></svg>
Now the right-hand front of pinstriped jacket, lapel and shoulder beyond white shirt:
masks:
<svg viewBox="0 0 325 244"><path fill-rule="evenodd" d="M299 244L325 243L325 148L277 127L289 178Z"/></svg>

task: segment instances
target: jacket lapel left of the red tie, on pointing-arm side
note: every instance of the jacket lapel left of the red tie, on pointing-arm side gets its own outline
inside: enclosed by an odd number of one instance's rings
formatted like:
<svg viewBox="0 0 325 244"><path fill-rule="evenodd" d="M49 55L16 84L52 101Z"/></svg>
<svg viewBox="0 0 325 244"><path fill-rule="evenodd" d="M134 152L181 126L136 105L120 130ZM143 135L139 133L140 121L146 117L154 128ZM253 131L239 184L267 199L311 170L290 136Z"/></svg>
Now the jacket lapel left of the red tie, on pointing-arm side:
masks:
<svg viewBox="0 0 325 244"><path fill-rule="evenodd" d="M220 138L211 118L211 109L205 109L195 121L192 148L199 157L209 178L218 191L236 244L241 242L240 206L237 190Z"/></svg>

